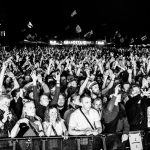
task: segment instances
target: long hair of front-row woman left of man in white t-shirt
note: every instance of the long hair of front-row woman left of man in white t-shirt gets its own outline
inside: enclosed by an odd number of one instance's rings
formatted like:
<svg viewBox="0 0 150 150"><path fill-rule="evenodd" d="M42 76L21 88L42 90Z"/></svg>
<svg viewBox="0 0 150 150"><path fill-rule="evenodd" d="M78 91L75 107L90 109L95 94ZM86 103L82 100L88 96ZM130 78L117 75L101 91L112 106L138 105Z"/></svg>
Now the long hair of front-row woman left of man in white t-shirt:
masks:
<svg viewBox="0 0 150 150"><path fill-rule="evenodd" d="M45 116L44 116L44 121L46 122L50 122L50 115L49 115L49 112L51 109L55 108L57 110L57 118L56 118L56 122L59 122L61 121L61 117L60 117L60 113L57 109L57 106L56 105L52 105L52 106L49 106L46 108L46 111L45 111Z"/></svg>

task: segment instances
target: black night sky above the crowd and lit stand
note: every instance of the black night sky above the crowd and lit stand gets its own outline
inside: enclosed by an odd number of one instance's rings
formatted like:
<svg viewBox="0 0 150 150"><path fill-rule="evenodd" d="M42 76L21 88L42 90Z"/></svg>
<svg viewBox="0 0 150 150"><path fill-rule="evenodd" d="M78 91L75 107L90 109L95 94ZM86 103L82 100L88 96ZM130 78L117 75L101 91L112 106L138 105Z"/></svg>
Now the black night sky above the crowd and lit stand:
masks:
<svg viewBox="0 0 150 150"><path fill-rule="evenodd" d="M24 38L27 30L23 29L29 21L34 26L31 32L41 40L76 38L79 36L75 32L77 24L82 29L81 38L93 30L91 40L109 39L116 30L128 37L149 35L150 32L150 6L145 1L20 0L3 3L0 17L5 22L9 39L15 41ZM72 18L74 10L77 15Z"/></svg>

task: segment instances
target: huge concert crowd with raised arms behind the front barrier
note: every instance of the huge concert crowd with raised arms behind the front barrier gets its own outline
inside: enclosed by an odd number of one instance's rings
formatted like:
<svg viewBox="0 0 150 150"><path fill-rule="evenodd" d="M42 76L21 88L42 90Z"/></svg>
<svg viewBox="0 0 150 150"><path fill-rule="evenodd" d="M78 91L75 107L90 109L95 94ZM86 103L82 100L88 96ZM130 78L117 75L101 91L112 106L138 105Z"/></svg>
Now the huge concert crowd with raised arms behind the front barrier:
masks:
<svg viewBox="0 0 150 150"><path fill-rule="evenodd" d="M25 46L0 56L1 138L122 132L106 139L115 149L150 127L148 48Z"/></svg>

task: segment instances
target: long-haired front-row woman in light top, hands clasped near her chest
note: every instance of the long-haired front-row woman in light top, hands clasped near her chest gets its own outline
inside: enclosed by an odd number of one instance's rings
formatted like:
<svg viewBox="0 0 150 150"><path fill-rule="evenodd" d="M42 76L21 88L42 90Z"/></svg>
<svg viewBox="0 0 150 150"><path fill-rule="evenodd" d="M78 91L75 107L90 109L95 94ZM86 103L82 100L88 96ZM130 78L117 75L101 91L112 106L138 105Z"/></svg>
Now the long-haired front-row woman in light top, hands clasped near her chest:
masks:
<svg viewBox="0 0 150 150"><path fill-rule="evenodd" d="M68 131L64 120L60 117L57 106L50 106L45 112L45 121L43 128L46 136L62 136L64 139L68 138ZM50 139L48 142L49 150L60 149L60 139Z"/></svg>

